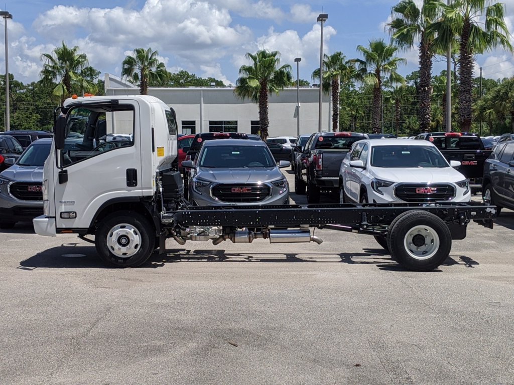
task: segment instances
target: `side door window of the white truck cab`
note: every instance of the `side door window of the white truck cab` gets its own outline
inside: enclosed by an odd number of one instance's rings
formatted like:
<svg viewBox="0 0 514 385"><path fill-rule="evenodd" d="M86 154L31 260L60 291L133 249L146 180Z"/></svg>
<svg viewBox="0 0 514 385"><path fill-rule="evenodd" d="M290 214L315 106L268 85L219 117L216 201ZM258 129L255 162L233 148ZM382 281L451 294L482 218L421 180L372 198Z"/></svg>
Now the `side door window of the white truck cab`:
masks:
<svg viewBox="0 0 514 385"><path fill-rule="evenodd" d="M87 106L68 112L63 167L134 145L134 109L130 105Z"/></svg>

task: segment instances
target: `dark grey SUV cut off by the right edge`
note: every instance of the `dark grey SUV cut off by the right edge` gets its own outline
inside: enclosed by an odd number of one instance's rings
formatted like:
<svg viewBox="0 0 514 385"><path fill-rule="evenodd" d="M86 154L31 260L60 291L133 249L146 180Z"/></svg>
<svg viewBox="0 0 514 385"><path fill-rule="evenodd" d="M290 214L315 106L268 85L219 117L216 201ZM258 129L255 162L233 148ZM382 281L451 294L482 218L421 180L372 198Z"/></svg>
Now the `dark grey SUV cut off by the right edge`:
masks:
<svg viewBox="0 0 514 385"><path fill-rule="evenodd" d="M498 206L498 215L502 207L514 209L514 141L494 147L486 160L482 197Z"/></svg>

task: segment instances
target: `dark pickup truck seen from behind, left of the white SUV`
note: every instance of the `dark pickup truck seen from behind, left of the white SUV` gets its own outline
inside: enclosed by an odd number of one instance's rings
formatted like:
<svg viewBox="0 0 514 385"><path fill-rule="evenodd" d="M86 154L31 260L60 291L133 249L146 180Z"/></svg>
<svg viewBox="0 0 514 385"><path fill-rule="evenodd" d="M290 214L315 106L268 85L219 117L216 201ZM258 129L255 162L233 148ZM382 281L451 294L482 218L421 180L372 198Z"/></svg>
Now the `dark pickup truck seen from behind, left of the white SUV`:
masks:
<svg viewBox="0 0 514 385"><path fill-rule="evenodd" d="M368 139L359 132L313 133L295 162L295 192L307 192L308 203L319 203L321 192L339 190L339 168L355 142Z"/></svg>

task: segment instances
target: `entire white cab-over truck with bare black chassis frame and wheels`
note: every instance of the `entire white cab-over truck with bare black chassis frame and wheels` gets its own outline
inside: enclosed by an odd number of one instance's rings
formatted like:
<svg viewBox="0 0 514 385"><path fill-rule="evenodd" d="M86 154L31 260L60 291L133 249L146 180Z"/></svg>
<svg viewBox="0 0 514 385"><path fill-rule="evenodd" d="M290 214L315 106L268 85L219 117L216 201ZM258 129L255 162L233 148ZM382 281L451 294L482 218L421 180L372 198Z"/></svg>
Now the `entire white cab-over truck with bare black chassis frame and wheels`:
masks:
<svg viewBox="0 0 514 385"><path fill-rule="evenodd" d="M93 235L106 264L127 267L143 264L157 248L164 253L168 238L181 245L256 238L321 243L310 233L318 227L372 235L403 266L427 271L448 257L452 239L466 237L471 220L492 228L495 217L495 207L481 203L194 207L183 198L176 157L175 112L162 101L66 100L44 166L36 233ZM334 251L343 247L335 244Z"/></svg>

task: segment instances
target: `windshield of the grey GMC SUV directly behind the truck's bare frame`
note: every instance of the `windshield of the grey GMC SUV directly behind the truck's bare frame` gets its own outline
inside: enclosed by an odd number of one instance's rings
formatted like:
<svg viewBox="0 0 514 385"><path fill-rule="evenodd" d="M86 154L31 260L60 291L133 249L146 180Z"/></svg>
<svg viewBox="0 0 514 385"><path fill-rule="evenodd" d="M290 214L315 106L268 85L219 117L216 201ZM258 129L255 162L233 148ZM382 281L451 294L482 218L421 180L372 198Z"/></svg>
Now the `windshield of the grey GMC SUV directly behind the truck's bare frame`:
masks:
<svg viewBox="0 0 514 385"><path fill-rule="evenodd" d="M207 146L201 153L200 167L275 167L265 146Z"/></svg>

